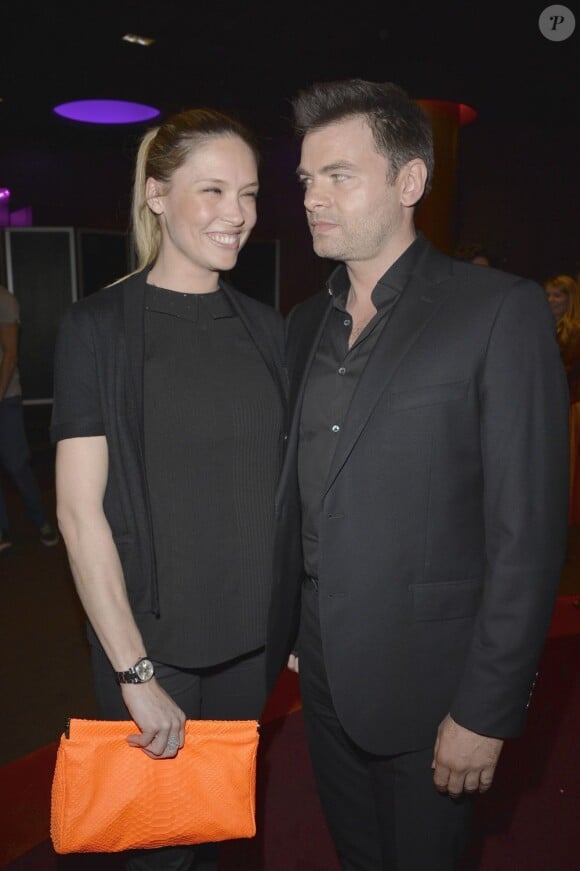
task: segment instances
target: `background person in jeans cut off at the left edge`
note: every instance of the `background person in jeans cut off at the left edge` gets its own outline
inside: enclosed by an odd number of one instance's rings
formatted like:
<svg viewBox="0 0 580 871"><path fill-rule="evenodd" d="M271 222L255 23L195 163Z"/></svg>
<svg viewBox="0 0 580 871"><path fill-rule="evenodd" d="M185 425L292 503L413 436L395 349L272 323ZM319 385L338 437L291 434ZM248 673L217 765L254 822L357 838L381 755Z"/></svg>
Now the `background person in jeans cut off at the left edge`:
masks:
<svg viewBox="0 0 580 871"><path fill-rule="evenodd" d="M59 536L50 524L34 473L30 467L28 441L22 415L18 376L19 306L10 291L0 284L0 464L16 484L25 508L47 547ZM0 554L12 547L8 513L0 488Z"/></svg>

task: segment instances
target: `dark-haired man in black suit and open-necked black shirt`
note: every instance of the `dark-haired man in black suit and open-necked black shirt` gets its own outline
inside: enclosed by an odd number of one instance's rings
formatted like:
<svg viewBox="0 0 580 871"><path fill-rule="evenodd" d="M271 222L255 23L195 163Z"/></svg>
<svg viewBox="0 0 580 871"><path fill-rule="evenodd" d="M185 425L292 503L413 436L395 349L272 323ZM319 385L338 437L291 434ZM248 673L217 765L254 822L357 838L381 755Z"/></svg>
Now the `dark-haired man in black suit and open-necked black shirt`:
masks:
<svg viewBox="0 0 580 871"><path fill-rule="evenodd" d="M451 871L523 727L564 559L553 319L535 283L416 232L433 146L402 90L317 84L294 111L314 249L342 263L288 321L271 677L294 649L341 867Z"/></svg>

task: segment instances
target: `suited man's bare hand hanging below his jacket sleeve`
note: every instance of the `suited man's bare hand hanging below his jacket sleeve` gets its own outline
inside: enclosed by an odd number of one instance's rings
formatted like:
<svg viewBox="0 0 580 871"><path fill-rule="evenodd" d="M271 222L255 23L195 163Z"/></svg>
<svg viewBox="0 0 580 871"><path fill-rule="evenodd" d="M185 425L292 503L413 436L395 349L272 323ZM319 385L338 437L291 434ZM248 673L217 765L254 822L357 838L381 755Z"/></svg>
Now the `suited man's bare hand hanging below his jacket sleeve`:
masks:
<svg viewBox="0 0 580 871"><path fill-rule="evenodd" d="M452 798L487 792L503 747L501 738L471 732L447 714L437 732L433 753L433 783Z"/></svg>

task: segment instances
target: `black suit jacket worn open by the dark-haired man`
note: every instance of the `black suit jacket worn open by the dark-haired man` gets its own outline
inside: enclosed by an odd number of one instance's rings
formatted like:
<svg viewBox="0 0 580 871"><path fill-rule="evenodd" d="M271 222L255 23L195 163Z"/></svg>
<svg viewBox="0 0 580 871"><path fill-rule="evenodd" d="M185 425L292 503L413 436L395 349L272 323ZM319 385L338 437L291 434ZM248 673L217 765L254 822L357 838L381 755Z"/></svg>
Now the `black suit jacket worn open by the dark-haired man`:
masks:
<svg viewBox="0 0 580 871"><path fill-rule="evenodd" d="M427 746L447 712L521 731L567 530L568 392L542 288L422 244L343 423L320 524L333 700L381 754ZM271 676L297 628L298 422L330 306L318 294L288 323Z"/></svg>

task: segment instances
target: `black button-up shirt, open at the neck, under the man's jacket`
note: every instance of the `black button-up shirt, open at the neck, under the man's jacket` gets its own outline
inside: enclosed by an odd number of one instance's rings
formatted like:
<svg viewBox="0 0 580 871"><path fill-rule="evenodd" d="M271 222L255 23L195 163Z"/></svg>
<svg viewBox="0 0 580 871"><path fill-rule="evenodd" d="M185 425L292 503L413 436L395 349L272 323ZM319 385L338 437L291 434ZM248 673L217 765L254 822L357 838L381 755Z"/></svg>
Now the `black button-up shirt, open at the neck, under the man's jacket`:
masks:
<svg viewBox="0 0 580 871"><path fill-rule="evenodd" d="M310 577L318 577L322 495L344 419L358 380L425 244L419 235L379 279L371 295L377 313L350 349L352 318L346 311L350 289L346 267L341 264L328 279L332 311L308 375L298 450L304 564Z"/></svg>

